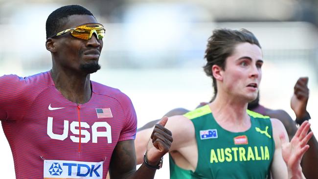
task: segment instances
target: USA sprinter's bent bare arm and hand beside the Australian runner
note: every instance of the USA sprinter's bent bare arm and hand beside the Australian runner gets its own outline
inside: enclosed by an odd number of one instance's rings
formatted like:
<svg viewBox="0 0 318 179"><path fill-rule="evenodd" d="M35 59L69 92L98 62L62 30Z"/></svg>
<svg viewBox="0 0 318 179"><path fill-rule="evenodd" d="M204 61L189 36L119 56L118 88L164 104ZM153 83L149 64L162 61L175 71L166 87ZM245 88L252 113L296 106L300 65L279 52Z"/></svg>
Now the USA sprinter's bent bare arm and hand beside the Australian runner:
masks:
<svg viewBox="0 0 318 179"><path fill-rule="evenodd" d="M163 117L159 124L156 124L151 137L146 141L148 143L146 156L149 165L158 165L161 157L170 149L172 143L171 132L164 128L167 120L167 117ZM111 179L153 179L155 173L156 169L147 167L145 163L136 171L134 140L117 143L110 163L109 174Z"/></svg>

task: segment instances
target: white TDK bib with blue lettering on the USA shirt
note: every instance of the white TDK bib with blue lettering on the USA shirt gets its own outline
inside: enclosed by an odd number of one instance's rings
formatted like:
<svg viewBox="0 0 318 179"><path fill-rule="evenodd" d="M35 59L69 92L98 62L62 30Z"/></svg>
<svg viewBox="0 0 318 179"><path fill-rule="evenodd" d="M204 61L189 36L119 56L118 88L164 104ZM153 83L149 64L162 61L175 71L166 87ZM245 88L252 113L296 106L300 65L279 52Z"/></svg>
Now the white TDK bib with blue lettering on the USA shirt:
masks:
<svg viewBox="0 0 318 179"><path fill-rule="evenodd" d="M102 179L103 162L45 160L44 178Z"/></svg>

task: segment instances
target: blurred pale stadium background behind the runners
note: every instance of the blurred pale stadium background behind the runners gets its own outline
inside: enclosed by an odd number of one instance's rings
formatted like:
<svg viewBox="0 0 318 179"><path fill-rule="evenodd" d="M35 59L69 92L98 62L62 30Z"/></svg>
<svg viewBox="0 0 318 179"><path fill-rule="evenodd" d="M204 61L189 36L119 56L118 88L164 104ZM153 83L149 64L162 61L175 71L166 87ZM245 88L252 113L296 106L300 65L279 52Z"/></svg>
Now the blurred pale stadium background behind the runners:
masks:
<svg viewBox="0 0 318 179"><path fill-rule="evenodd" d="M263 48L260 103L293 118L290 98L309 77L307 109L318 136L317 0L0 0L0 76L28 76L51 68L45 21L68 4L87 7L106 28L102 69L91 75L132 99L138 127L171 109L194 109L213 95L204 50L215 28L246 28ZM14 179L10 147L0 133L3 178ZM169 178L168 158L157 179Z"/></svg>

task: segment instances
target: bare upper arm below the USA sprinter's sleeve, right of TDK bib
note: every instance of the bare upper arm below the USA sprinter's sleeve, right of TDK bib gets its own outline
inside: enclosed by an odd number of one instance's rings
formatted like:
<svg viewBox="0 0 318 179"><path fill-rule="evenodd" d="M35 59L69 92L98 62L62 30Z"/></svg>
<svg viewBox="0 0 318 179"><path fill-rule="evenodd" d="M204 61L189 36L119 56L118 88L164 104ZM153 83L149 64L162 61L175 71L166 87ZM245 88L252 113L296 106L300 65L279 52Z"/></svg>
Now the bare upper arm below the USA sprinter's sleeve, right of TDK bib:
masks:
<svg viewBox="0 0 318 179"><path fill-rule="evenodd" d="M111 179L126 179L136 171L136 154L134 140L117 143L109 168Z"/></svg>

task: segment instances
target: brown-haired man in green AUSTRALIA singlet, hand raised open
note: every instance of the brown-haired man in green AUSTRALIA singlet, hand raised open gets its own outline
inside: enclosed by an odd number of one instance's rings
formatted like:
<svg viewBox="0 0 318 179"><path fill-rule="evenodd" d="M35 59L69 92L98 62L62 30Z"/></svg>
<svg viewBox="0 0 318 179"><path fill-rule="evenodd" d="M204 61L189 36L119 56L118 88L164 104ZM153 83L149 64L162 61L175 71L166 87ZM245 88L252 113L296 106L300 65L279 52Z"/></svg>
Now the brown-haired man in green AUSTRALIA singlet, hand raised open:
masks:
<svg viewBox="0 0 318 179"><path fill-rule="evenodd" d="M262 75L263 54L255 36L245 29L215 30L205 59L204 71L217 93L213 102L167 122L174 138L170 178L304 178L300 161L313 135L308 121L289 142L281 121L247 110ZM136 138L136 144L146 141ZM136 147L138 157L141 151Z"/></svg>

